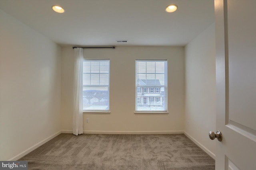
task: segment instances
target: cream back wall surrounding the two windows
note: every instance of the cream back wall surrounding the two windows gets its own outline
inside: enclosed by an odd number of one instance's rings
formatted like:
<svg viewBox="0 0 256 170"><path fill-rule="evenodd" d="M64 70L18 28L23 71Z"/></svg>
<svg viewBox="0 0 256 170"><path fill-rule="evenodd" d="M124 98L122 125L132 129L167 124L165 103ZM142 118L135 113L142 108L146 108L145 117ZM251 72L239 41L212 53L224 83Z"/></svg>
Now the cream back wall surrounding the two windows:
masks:
<svg viewBox="0 0 256 170"><path fill-rule="evenodd" d="M62 51L62 130L72 131L74 50ZM110 114L84 114L85 133L172 133L184 127L184 47L84 49L84 58L110 59ZM135 59L168 60L168 115L135 115ZM86 123L89 118L89 123Z"/></svg>

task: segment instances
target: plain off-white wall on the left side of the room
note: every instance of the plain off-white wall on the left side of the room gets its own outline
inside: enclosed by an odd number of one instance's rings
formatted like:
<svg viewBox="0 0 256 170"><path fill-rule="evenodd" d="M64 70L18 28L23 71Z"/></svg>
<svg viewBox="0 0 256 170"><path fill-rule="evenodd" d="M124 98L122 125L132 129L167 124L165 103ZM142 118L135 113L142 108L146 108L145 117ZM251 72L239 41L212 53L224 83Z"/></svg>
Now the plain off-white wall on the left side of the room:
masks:
<svg viewBox="0 0 256 170"><path fill-rule="evenodd" d="M0 37L0 160L15 160L60 131L61 47L3 11Z"/></svg>

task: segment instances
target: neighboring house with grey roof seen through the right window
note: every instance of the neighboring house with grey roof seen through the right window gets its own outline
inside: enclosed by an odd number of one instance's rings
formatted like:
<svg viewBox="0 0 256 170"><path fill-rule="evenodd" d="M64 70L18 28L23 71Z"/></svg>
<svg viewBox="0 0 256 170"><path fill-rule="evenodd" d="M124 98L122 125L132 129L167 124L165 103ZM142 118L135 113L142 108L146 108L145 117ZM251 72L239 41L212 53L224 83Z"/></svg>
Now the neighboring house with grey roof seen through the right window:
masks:
<svg viewBox="0 0 256 170"><path fill-rule="evenodd" d="M162 106L164 91L159 80L139 79L137 88L137 106Z"/></svg>

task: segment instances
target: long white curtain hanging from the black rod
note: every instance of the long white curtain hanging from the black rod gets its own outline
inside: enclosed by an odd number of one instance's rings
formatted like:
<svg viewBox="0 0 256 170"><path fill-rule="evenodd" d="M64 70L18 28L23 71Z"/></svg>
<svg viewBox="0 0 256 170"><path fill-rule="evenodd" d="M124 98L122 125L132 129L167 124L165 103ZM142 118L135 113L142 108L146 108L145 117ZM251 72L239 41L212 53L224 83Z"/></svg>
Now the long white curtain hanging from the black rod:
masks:
<svg viewBox="0 0 256 170"><path fill-rule="evenodd" d="M83 49L75 48L73 134L83 134Z"/></svg>

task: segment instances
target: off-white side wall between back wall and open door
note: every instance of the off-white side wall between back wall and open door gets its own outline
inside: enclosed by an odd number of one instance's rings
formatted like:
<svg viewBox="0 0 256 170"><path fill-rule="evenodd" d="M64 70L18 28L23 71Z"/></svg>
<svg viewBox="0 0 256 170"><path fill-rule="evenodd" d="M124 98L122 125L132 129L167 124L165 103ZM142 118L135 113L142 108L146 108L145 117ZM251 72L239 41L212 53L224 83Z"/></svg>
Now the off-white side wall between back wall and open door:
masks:
<svg viewBox="0 0 256 170"><path fill-rule="evenodd" d="M216 73L214 24L185 47L185 134L214 157L216 131Z"/></svg>

